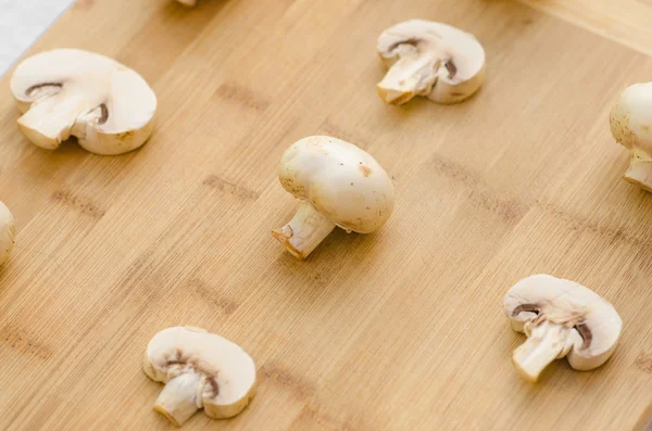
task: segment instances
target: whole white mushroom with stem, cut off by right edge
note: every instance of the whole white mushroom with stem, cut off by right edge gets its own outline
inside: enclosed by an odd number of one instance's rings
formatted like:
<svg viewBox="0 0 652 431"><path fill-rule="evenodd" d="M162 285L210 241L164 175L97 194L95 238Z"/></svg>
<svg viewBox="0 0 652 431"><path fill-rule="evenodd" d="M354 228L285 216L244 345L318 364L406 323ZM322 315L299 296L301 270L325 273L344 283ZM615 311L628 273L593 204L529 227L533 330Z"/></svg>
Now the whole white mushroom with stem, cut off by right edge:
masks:
<svg viewBox="0 0 652 431"><path fill-rule="evenodd" d="M625 179L652 191L652 83L623 91L609 119L616 141L631 151Z"/></svg>

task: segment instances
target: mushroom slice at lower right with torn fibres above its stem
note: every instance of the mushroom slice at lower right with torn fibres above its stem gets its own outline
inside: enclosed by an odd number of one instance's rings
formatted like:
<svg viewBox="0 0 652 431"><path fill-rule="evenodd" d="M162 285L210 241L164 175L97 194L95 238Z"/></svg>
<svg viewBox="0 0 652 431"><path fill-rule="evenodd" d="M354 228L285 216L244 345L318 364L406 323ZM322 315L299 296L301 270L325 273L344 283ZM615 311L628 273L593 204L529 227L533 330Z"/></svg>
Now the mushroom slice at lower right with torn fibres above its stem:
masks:
<svg viewBox="0 0 652 431"><path fill-rule="evenodd" d="M527 335L512 362L530 381L564 356L577 370L601 366L614 352L623 328L612 304L575 281L552 276L518 281L503 305L512 328Z"/></svg>

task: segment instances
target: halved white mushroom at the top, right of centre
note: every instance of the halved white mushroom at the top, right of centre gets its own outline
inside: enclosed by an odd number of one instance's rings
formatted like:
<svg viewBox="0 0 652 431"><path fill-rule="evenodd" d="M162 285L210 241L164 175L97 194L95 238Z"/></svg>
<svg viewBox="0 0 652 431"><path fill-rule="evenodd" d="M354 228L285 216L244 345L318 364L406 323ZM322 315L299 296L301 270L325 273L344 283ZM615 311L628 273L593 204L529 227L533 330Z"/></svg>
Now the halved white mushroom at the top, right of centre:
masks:
<svg viewBox="0 0 652 431"><path fill-rule="evenodd" d="M385 30L377 49L389 68L377 86L387 103L403 104L415 96L457 103L473 96L485 79L482 46L447 24L405 21Z"/></svg>

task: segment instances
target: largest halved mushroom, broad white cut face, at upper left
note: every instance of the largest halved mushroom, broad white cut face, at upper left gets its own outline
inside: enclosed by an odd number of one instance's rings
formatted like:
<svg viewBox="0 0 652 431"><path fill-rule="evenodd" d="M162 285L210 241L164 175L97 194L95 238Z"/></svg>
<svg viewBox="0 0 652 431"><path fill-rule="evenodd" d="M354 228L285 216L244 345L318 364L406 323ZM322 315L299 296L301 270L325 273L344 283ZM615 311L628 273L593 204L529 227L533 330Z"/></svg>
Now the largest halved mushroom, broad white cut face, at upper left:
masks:
<svg viewBox="0 0 652 431"><path fill-rule="evenodd" d="M18 127L48 150L75 136L92 153L122 154L152 132L154 92L136 72L103 55L76 49L41 52L18 64L11 89L24 113Z"/></svg>

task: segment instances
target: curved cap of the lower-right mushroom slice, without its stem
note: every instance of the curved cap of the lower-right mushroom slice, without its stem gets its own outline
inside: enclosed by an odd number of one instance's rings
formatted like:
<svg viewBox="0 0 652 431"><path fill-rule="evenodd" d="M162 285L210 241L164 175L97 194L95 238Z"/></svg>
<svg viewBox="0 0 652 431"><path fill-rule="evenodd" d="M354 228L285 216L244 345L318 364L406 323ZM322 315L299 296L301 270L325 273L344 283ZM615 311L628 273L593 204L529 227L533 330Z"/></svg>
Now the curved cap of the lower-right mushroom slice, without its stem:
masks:
<svg viewBox="0 0 652 431"><path fill-rule="evenodd" d="M606 300L575 281L548 275L518 281L504 296L503 305L518 332L540 316L573 328L580 337L574 337L567 359L578 370L593 369L609 359L623 329L620 316Z"/></svg>

